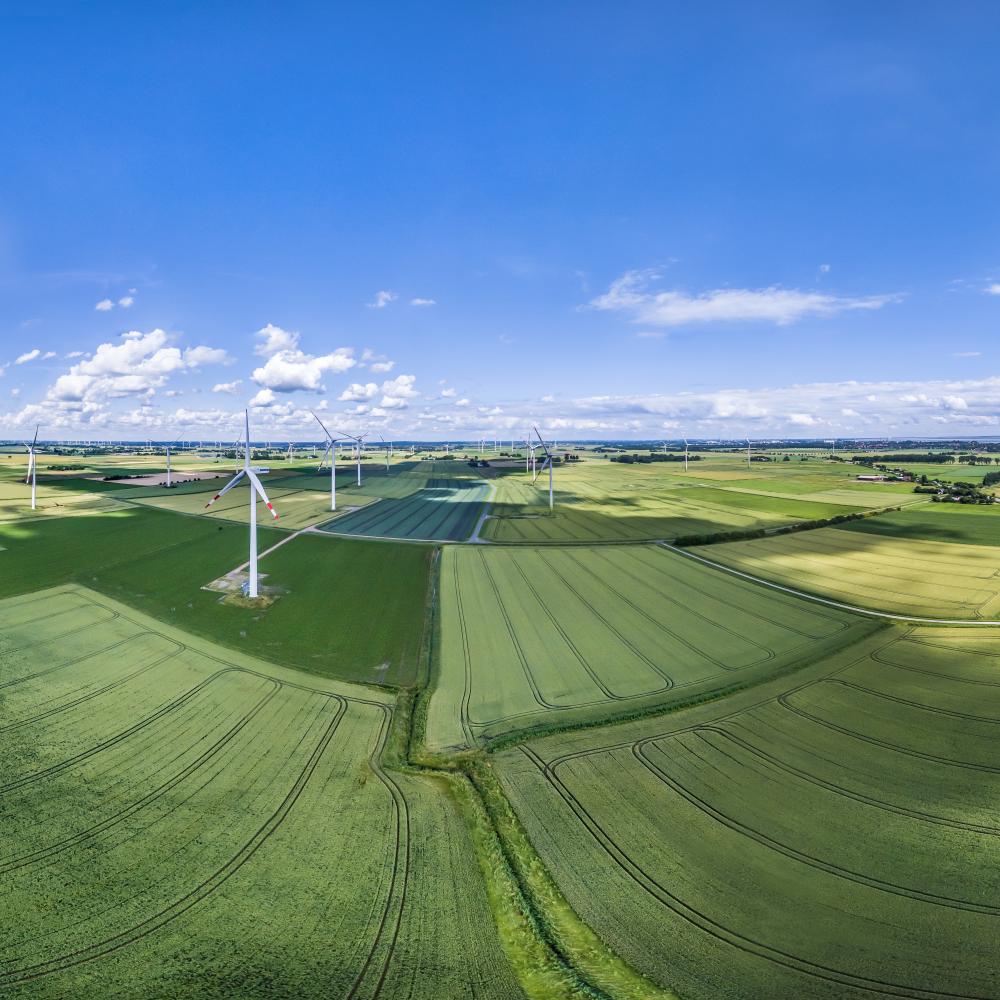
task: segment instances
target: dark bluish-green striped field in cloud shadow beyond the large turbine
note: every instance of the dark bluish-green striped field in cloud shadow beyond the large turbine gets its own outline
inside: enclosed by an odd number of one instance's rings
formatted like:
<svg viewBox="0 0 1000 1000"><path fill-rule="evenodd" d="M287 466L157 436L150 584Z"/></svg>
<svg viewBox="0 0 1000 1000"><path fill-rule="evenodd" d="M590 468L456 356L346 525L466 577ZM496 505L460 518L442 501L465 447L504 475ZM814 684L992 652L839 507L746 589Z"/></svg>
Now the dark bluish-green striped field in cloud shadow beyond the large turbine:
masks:
<svg viewBox="0 0 1000 1000"><path fill-rule="evenodd" d="M489 484L471 479L430 479L401 500L381 500L346 514L321 530L411 541L465 541L489 498Z"/></svg>

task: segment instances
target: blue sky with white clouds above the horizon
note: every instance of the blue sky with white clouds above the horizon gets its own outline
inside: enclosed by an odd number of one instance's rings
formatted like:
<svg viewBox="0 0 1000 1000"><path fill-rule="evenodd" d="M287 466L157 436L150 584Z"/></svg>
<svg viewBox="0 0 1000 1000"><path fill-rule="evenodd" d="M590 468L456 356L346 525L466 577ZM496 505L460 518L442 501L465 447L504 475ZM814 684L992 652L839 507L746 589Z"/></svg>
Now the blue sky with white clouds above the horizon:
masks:
<svg viewBox="0 0 1000 1000"><path fill-rule="evenodd" d="M1000 433L993 4L46 6L0 435Z"/></svg>

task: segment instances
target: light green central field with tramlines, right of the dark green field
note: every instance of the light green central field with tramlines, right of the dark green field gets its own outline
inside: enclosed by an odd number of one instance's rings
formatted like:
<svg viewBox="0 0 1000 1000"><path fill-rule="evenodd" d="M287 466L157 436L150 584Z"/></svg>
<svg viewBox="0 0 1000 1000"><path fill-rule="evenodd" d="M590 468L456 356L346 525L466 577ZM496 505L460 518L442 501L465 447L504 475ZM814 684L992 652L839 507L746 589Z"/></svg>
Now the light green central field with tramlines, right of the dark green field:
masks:
<svg viewBox="0 0 1000 1000"><path fill-rule="evenodd" d="M866 627L659 546L449 548L428 742L474 746L666 705Z"/></svg>

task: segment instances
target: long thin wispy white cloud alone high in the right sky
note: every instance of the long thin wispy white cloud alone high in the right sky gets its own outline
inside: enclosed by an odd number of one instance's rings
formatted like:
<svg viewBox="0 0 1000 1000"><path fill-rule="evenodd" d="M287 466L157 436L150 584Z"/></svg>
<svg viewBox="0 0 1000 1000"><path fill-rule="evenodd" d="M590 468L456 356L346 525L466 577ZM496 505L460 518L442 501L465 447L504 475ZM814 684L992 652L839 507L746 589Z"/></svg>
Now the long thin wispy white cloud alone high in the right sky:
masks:
<svg viewBox="0 0 1000 1000"><path fill-rule="evenodd" d="M844 298L795 288L717 288L697 295L655 291L656 271L629 271L604 295L592 299L594 309L619 312L633 323L674 327L692 323L757 321L786 326L810 316L833 316L854 310L881 309L900 301L899 295Z"/></svg>

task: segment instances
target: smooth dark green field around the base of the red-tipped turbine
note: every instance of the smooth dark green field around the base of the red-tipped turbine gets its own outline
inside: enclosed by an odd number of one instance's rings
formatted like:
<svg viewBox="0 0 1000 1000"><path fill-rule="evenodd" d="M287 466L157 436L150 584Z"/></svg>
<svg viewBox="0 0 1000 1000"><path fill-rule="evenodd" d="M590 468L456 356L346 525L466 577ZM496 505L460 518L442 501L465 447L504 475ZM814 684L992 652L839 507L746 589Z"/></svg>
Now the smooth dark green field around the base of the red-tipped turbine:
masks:
<svg viewBox="0 0 1000 1000"><path fill-rule="evenodd" d="M261 552L288 536L259 530ZM244 527L129 508L0 525L0 596L83 583L165 622L315 674L412 684L430 552L302 535L260 561L270 607L202 590L247 559ZM378 581L377 604L372 584Z"/></svg>

